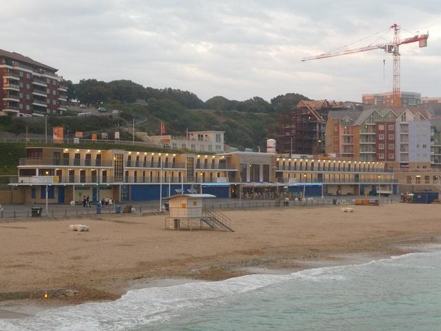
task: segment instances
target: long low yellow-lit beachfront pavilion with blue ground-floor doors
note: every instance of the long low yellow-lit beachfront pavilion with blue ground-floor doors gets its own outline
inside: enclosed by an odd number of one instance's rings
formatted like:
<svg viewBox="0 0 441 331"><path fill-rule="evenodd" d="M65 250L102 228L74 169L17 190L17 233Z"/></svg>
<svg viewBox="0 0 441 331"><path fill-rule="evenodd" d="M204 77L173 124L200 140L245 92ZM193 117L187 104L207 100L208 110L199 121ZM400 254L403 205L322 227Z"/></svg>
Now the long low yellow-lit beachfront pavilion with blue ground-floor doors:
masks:
<svg viewBox="0 0 441 331"><path fill-rule="evenodd" d="M374 187L397 192L392 170L380 162L265 152L177 154L63 147L26 148L10 185L12 203L43 203L46 189L49 203L81 201L84 196L91 201L148 201L176 193L274 199L299 192L307 197L362 195Z"/></svg>

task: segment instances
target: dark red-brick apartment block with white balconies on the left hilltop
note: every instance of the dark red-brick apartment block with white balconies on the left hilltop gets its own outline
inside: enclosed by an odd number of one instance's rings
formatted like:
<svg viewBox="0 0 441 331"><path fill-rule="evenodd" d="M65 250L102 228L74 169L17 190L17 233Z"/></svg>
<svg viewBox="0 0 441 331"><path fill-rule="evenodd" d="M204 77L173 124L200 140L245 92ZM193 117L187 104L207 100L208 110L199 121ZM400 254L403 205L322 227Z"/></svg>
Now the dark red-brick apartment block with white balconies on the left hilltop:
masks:
<svg viewBox="0 0 441 331"><path fill-rule="evenodd" d="M16 52L0 50L0 115L62 114L67 88L57 69Z"/></svg>

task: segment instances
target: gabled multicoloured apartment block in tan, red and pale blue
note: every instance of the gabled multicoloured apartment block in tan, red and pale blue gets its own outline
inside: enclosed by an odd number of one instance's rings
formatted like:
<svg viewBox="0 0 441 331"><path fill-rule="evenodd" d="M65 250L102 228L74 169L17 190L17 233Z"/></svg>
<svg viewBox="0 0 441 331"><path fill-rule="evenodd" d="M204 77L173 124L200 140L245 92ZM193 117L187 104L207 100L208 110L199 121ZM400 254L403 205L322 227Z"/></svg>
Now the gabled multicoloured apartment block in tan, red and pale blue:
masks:
<svg viewBox="0 0 441 331"><path fill-rule="evenodd" d="M362 161L430 163L431 114L422 107L365 105L329 112L326 152ZM393 165L395 166L395 165Z"/></svg>

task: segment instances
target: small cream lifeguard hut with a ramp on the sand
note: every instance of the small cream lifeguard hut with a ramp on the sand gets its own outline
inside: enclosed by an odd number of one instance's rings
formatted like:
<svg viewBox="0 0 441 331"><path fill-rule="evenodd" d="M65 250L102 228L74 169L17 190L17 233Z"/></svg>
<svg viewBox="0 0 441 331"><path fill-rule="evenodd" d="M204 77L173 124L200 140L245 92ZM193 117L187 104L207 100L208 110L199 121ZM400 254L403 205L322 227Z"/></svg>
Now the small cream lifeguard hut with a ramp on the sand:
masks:
<svg viewBox="0 0 441 331"><path fill-rule="evenodd" d="M203 199L216 198L213 194L177 194L168 197L170 215L165 218L169 230L226 230L233 232L231 219L223 213L203 208Z"/></svg>

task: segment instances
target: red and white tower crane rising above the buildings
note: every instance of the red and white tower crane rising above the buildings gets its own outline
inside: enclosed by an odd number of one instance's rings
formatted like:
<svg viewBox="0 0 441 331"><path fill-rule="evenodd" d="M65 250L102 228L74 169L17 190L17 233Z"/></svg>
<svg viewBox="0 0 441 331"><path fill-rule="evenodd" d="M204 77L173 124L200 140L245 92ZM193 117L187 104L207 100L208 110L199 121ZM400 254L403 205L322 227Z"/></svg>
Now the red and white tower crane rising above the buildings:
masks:
<svg viewBox="0 0 441 331"><path fill-rule="evenodd" d="M305 57L302 61L310 61L316 59L326 59L328 57L338 57L340 55L353 54L358 52L366 52L368 50L382 49L384 52L392 53L393 57L393 88L392 88L392 100L393 106L401 106L401 92L400 92L400 45L406 43L414 43L418 41L420 48L427 47L427 39L429 38L429 32L427 34L416 34L413 37L400 39L400 26L393 24L389 29L393 29L393 41L389 43L379 43L376 45L369 45L360 48L353 48L349 50L342 50L340 52L327 52L316 55L314 57Z"/></svg>

